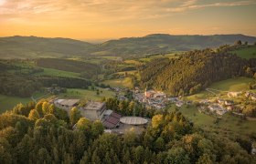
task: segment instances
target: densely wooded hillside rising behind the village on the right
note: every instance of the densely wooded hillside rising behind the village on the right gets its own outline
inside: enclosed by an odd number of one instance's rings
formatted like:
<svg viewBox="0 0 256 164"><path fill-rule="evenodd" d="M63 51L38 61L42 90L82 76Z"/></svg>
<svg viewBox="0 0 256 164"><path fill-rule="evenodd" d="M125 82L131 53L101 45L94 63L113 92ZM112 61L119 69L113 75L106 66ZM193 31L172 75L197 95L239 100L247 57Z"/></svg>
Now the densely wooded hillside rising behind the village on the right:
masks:
<svg viewBox="0 0 256 164"><path fill-rule="evenodd" d="M253 77L255 60L211 49L189 51L177 59L158 58L141 68L141 86L186 96L219 80Z"/></svg>

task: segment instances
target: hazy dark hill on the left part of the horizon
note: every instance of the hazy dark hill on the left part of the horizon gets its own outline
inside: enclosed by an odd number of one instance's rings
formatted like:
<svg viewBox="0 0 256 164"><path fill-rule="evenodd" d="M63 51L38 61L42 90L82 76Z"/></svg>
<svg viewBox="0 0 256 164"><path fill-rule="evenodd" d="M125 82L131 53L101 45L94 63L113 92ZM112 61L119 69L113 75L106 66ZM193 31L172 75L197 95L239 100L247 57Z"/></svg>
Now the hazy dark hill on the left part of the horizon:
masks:
<svg viewBox="0 0 256 164"><path fill-rule="evenodd" d="M84 56L94 50L87 42L69 38L10 36L0 38L1 58Z"/></svg>

